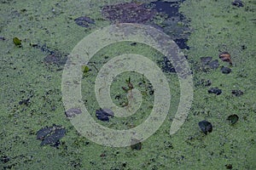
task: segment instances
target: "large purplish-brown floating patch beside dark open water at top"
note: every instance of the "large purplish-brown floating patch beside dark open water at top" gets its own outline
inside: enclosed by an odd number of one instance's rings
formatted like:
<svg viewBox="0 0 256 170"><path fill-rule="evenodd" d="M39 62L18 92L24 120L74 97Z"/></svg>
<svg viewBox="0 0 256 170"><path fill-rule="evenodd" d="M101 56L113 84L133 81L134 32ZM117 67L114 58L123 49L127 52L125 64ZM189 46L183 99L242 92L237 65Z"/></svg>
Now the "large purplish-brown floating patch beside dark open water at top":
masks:
<svg viewBox="0 0 256 170"><path fill-rule="evenodd" d="M151 20L154 14L156 11L145 8L143 3L118 3L102 8L102 15L113 23L144 24Z"/></svg>

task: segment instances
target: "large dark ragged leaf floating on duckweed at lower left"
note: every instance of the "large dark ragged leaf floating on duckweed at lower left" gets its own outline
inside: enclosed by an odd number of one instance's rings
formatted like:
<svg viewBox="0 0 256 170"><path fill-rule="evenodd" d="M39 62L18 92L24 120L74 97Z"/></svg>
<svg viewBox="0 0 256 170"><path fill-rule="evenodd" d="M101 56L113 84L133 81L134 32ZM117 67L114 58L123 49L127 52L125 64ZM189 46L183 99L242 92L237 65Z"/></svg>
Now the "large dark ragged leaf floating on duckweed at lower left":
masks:
<svg viewBox="0 0 256 170"><path fill-rule="evenodd" d="M65 135L64 127L53 125L52 127L44 127L38 130L37 139L42 140L41 145L49 144L58 147L60 139Z"/></svg>

